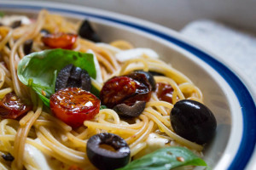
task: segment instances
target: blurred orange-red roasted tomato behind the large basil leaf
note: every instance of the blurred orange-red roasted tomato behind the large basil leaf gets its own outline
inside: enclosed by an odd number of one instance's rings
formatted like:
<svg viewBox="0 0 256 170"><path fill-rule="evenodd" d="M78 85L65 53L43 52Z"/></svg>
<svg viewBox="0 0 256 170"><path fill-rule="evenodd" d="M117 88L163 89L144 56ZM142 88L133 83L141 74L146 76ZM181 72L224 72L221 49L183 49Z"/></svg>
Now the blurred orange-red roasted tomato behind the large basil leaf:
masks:
<svg viewBox="0 0 256 170"><path fill-rule="evenodd" d="M46 34L42 37L44 45L49 48L64 48L72 49L74 42L77 40L77 35L58 32L55 34Z"/></svg>

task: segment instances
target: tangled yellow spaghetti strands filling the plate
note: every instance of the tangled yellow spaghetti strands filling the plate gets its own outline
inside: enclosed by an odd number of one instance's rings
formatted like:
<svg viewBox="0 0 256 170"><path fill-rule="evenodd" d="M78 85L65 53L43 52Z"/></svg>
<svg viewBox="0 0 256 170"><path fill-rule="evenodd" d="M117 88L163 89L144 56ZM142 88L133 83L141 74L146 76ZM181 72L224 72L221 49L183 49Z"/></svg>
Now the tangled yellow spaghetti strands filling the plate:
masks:
<svg viewBox="0 0 256 170"><path fill-rule="evenodd" d="M143 54L140 58L120 62L115 55L120 51L133 49L130 42L123 40L106 43L95 43L78 37L73 45L74 51L87 53L92 50L100 64L102 82L92 80L92 84L101 89L103 82L110 77L129 74L131 71L157 71L165 75L155 76L155 81L165 82L173 88L172 103L162 101L156 93L146 104L141 116L133 122L125 119L111 109L103 109L84 126L73 129L61 122L43 107L41 99L31 89L20 83L17 77L17 66L25 56L24 43L32 39L32 51L39 52L47 47L41 41L49 32L68 32L76 34L80 22L74 23L55 14L42 10L38 19L30 25L11 28L0 26L0 98L10 92L15 92L22 99L30 99L33 103L31 111L20 120L0 119L0 154L10 153L15 157L11 163L0 156L1 169L67 169L75 164L86 169L95 169L85 154L85 146L90 137L96 133L108 132L118 134L125 139L131 148L134 159L148 153L152 144L148 143L150 134L154 133L160 139L170 141L167 145L182 145L200 156L203 146L195 144L178 136L172 130L170 111L177 100L193 99L202 102L201 90L183 73L160 59ZM172 141L172 142L171 142ZM34 151L34 152L33 152ZM152 150L150 150L152 151ZM35 156L31 156L30 152ZM35 157L44 157L47 161L38 161Z"/></svg>

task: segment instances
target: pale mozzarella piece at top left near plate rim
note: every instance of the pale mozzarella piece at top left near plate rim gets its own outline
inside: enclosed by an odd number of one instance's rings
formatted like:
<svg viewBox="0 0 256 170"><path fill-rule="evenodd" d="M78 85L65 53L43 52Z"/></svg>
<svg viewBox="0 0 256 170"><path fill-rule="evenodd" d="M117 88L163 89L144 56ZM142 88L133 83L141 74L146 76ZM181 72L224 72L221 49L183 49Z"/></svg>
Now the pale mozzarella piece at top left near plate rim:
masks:
<svg viewBox="0 0 256 170"><path fill-rule="evenodd" d="M22 25L29 25L31 24L31 20L23 15L10 15L10 16L3 16L3 18L0 18L0 23L2 23L4 26L10 26L13 22L21 20Z"/></svg>

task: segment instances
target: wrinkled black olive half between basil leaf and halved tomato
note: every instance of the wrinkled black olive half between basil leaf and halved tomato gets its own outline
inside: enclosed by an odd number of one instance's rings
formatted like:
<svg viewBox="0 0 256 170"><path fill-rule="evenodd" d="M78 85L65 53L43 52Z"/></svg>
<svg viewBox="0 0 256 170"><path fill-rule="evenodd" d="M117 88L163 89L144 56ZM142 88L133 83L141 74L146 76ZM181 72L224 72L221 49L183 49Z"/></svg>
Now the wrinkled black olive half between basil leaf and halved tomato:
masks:
<svg viewBox="0 0 256 170"><path fill-rule="evenodd" d="M82 88L90 91L90 76L87 71L74 65L67 65L59 71L55 83L55 92L61 88Z"/></svg>

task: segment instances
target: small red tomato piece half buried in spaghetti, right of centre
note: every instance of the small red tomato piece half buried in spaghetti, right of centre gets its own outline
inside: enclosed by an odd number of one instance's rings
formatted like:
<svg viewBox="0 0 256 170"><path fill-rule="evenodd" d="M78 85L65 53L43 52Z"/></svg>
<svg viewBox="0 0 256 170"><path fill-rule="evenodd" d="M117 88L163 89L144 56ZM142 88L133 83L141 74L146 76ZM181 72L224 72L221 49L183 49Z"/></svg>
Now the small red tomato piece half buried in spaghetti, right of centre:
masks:
<svg viewBox="0 0 256 170"><path fill-rule="evenodd" d="M156 83L156 94L158 99L169 102L172 104L173 88L171 85L158 82Z"/></svg>

